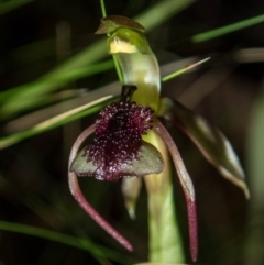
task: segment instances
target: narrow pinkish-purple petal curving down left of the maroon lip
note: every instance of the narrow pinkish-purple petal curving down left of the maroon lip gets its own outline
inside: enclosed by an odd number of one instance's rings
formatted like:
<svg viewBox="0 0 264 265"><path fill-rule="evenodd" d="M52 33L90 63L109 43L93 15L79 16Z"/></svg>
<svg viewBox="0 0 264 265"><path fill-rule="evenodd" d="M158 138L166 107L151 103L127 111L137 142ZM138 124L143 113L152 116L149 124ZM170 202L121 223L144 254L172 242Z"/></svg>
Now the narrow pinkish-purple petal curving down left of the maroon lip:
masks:
<svg viewBox="0 0 264 265"><path fill-rule="evenodd" d="M94 132L95 132L95 125L91 125L88 129L86 129L75 141L75 144L69 155L68 168L70 168L70 165L75 156L77 155L80 145ZM79 188L78 178L76 174L74 172L70 172L69 169L68 169L68 183L69 183L70 192L78 201L79 206L91 217L91 219L94 219L103 230L106 230L113 239L116 239L127 250L133 251L133 246L131 245L131 243L128 240L125 240L111 224L109 224L86 200L85 196L82 195Z"/></svg>

